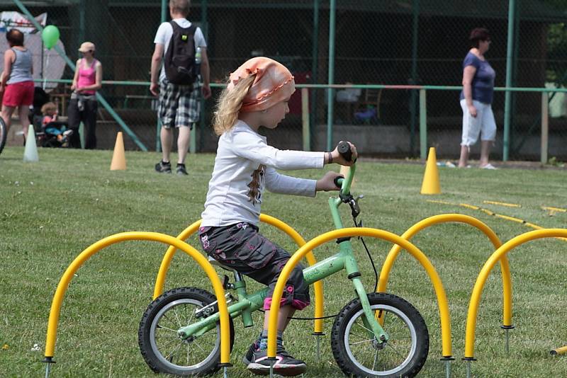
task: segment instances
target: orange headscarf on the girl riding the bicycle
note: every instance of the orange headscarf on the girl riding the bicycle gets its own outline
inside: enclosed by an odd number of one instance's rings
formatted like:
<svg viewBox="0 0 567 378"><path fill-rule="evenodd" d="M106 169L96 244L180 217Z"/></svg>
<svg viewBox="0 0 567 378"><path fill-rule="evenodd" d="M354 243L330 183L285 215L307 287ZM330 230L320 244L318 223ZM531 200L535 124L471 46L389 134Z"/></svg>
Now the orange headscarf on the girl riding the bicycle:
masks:
<svg viewBox="0 0 567 378"><path fill-rule="evenodd" d="M254 112L270 108L296 91L291 72L283 64L266 57L249 59L232 72L228 90L234 88L240 79L252 74L256 74L256 79L242 101L241 111Z"/></svg>

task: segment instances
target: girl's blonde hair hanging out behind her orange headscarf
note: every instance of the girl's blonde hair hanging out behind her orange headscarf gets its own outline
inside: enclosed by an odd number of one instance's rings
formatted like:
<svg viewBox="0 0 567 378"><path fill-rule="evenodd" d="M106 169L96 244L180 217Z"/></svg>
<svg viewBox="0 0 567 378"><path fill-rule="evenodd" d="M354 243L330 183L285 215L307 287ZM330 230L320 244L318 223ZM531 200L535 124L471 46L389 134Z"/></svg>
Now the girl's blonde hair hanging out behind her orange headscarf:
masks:
<svg viewBox="0 0 567 378"><path fill-rule="evenodd" d="M244 79L240 79L230 91L225 88L220 93L213 120L215 134L220 136L235 125L240 108L242 108L242 100L246 97L249 88L254 84L254 79L256 79L255 74L249 75Z"/></svg>

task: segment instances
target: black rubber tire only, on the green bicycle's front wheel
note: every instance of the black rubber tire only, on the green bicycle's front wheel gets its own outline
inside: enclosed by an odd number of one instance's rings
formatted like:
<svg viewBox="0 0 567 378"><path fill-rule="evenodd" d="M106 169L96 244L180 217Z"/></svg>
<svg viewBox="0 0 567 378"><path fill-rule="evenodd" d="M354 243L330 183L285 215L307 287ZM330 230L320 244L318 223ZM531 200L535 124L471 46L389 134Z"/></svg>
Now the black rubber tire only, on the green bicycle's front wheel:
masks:
<svg viewBox="0 0 567 378"><path fill-rule="evenodd" d="M427 331L427 325L421 314L408 301L393 294L372 292L368 294L368 297L371 307L379 305L394 307L410 319L417 338L416 351L408 365L395 374L369 374L357 367L349 357L347 348L344 345L347 324L352 316L357 315L362 309L360 300L357 298L343 307L332 326L331 348L337 365L349 377L415 377L425 364L427 354L429 353L429 331ZM388 333L388 329L386 329L386 333Z"/></svg>

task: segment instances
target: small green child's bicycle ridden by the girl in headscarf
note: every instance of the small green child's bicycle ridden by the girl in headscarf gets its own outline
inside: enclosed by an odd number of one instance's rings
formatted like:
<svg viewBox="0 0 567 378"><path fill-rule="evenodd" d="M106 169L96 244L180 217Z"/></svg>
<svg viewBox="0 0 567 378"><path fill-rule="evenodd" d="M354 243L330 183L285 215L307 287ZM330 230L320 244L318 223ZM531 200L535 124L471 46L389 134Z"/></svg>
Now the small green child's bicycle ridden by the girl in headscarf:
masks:
<svg viewBox="0 0 567 378"><path fill-rule="evenodd" d="M339 143L339 152L350 160L350 146ZM335 181L338 198L329 200L333 222L344 228L338 207L351 208L355 224L360 208L350 193L356 165L346 177ZM303 270L309 285L345 270L357 292L335 317L331 347L339 368L354 377L414 377L420 372L429 352L429 332L421 314L409 302L393 294L366 293L350 238L337 240L339 252ZM366 248L366 246L365 246ZM368 250L371 263L374 261ZM216 263L217 265L220 265ZM252 312L262 309L267 287L252 294L246 291L244 276L230 270L235 282L225 275L230 348L235 333L232 319L242 317L245 327L252 326ZM376 282L377 283L377 282ZM232 296L235 290L237 296ZM179 287L157 297L147 307L138 331L140 352L155 372L205 376L219 369L220 326L215 296L196 287Z"/></svg>

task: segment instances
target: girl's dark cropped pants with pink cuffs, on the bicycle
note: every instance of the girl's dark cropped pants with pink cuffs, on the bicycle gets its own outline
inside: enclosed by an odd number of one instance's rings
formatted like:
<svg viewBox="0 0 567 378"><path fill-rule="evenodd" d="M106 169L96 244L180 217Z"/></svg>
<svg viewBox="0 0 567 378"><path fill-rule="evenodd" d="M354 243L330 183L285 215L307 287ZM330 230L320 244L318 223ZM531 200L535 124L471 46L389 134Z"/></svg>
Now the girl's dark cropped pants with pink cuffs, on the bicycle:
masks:
<svg viewBox="0 0 567 378"><path fill-rule="evenodd" d="M269 287L264 309L269 309L279 274L290 255L273 244L258 227L246 222L225 227L201 227L199 239L205 252L223 265ZM304 309L310 304L309 285L303 278L303 267L297 265L288 277L280 305L291 304Z"/></svg>

